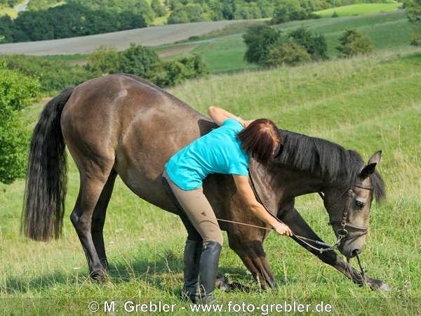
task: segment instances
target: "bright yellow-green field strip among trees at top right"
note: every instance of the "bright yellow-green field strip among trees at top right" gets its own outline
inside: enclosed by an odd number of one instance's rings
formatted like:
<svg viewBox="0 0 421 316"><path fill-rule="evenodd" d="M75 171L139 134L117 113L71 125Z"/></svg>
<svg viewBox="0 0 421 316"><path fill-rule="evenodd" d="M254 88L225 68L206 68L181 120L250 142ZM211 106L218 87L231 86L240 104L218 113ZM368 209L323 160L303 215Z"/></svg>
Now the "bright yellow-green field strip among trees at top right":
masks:
<svg viewBox="0 0 421 316"><path fill-rule="evenodd" d="M338 14L338 16L365 15L395 11L401 6L402 4L399 2L392 4L352 4L349 6L338 6L335 8L335 12ZM333 15L333 12L333 8L330 8L316 11L314 13L320 15L322 18L330 18Z"/></svg>

